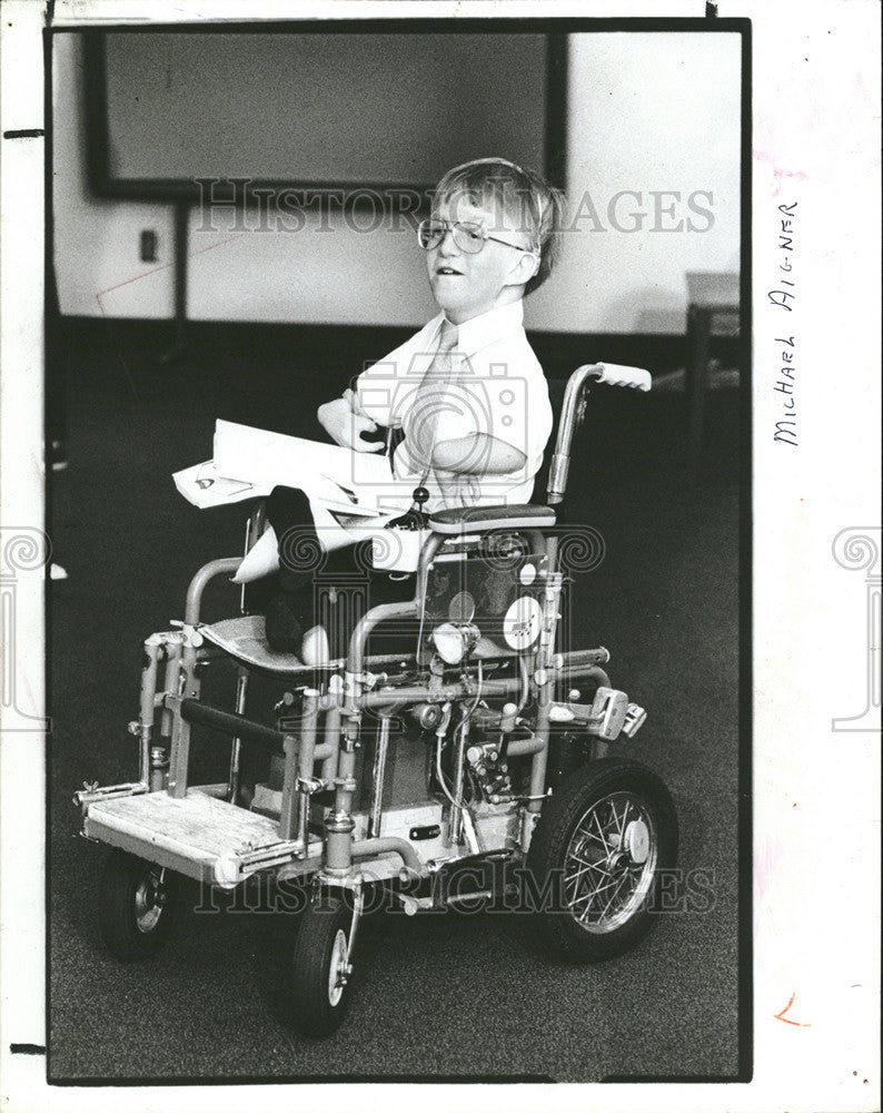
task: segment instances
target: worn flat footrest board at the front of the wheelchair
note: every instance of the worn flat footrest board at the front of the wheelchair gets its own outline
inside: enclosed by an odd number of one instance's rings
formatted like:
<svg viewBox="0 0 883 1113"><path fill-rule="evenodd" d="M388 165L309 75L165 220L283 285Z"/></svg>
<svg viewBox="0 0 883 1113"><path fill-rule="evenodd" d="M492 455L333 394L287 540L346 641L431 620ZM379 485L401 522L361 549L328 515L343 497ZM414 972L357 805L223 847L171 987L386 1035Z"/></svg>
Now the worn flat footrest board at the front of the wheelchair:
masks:
<svg viewBox="0 0 883 1113"><path fill-rule="evenodd" d="M83 834L222 888L302 857L300 844L280 839L272 819L198 788L180 800L161 791L96 801L87 810ZM315 839L317 860L320 850Z"/></svg>

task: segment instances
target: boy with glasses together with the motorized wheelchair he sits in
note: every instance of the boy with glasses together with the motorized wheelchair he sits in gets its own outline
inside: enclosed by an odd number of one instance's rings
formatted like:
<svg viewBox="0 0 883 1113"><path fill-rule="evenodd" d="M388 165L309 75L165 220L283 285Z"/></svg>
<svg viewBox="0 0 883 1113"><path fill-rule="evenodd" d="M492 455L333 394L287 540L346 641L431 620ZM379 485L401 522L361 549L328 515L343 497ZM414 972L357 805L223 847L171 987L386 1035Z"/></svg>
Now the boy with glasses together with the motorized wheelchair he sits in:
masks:
<svg viewBox="0 0 883 1113"><path fill-rule="evenodd" d="M651 381L611 364L571 375L547 501L530 505L552 414L522 298L548 275L559 217L558 195L509 162L452 170L419 228L442 314L320 408L333 439L357 452L378 451L368 437L379 426L400 429L387 498L406 511L413 499L405 518L427 528L399 598L373 590L351 615L344 660L302 660L314 572L291 567L287 542L309 540L311 526L306 498L291 490L277 489L268 506L281 565L267 613L276 646L249 642L251 615L229 620L247 628L236 642L227 622L202 621L205 588L238 574L239 558L199 569L183 621L146 639L130 723L138 780L75 795L83 834L113 848L98 906L111 954L128 962L156 949L181 876L225 889L259 876L308 883L287 1002L300 1031L321 1036L348 1007L359 923L378 887L408 914L514 887L514 910L569 962L624 954L649 929L661 876L676 861L677 818L654 772L608 756L646 718L612 687L608 651L559 648L574 538L559 533L556 508L589 384L647 391ZM319 544L315 530L311 540ZM331 558L344 574L351 556ZM416 626L409 653L368 652L386 622ZM488 633L496 653L478 651ZM300 659L285 651L291 644ZM234 712L202 698L215 661L236 669ZM246 715L251 676L292 689L276 705L275 728ZM231 738L226 782L190 784L194 726ZM250 806L239 791L241 746L270 758ZM487 892L452 889L474 869Z"/></svg>

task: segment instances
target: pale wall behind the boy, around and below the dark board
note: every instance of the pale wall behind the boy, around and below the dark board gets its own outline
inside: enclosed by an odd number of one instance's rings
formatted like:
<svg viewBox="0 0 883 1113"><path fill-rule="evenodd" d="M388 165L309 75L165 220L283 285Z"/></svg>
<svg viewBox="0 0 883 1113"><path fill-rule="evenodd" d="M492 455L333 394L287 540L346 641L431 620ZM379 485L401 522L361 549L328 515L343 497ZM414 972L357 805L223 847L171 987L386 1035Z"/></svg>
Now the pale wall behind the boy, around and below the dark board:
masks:
<svg viewBox="0 0 883 1113"><path fill-rule="evenodd" d="M82 63L56 36L56 257L63 313L172 313L171 209L98 200L83 176ZM568 204L574 227L559 268L526 303L527 324L560 332L682 332L686 270L738 266L740 37L577 35L571 39ZM619 198L611 220L608 205ZM651 190L664 197L661 216ZM692 211L687 197L712 217ZM584 198L588 195L588 200ZM636 214L643 213L641 218ZM597 218L597 219L596 219ZM254 228L256 219L249 218ZM688 232L687 221L704 232ZM677 226L681 230L654 230ZM222 221L220 221L222 224ZM195 319L421 324L433 312L423 260L404 223L359 233L337 215L319 230L190 236ZM351 221L350 221L351 223ZM229 221L228 221L229 224ZM138 262L139 233L159 236L159 264Z"/></svg>

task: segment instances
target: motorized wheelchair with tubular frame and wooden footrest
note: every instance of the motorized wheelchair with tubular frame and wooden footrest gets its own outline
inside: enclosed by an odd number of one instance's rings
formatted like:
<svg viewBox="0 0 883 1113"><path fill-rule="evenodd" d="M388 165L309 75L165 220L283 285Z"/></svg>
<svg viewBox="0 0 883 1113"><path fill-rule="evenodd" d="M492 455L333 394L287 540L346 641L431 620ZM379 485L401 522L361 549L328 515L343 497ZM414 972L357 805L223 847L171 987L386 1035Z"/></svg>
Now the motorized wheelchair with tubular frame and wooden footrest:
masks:
<svg viewBox="0 0 883 1113"><path fill-rule="evenodd" d="M183 621L143 643L129 723L138 779L75 795L81 834L111 848L98 918L112 955L156 951L181 876L299 893L286 998L291 1023L318 1037L345 1016L378 893L408 915L502 899L535 943L573 963L643 938L676 861L675 808L663 781L621 754L646 712L612 686L608 651L560 648L569 573L589 567L597 540L558 521L594 384L646 391L651 377L612 364L574 372L545 503L429 514L414 598L354 612L345 656L326 666L270 650L259 615L202 622L207 584L240 558L199 569ZM246 551L261 531L258 504ZM409 650L369 651L385 629ZM232 710L201 698L219 660L237 676ZM255 676L286 689L274 727L246 715ZM189 784L195 726L230 740L226 782ZM244 747L269 762L252 788Z"/></svg>

